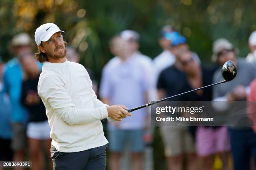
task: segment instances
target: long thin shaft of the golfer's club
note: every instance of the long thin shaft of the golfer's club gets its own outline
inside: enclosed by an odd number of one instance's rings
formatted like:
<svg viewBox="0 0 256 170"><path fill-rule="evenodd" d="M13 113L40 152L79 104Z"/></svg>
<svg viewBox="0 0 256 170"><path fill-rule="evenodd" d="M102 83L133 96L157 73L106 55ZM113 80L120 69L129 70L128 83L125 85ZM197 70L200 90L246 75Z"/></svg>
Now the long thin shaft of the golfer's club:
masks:
<svg viewBox="0 0 256 170"><path fill-rule="evenodd" d="M143 108L143 107L150 106L150 105L154 105L154 104L156 104L156 103L159 103L159 102L164 101L164 100L171 99L171 98L173 98L173 97L178 97L178 96L181 96L181 95L185 95L185 94L187 94L187 93L189 93L189 92L194 92L194 91L197 91L197 90L201 90L201 89L203 89L203 88L211 87L211 86L213 86L213 85L218 85L218 84L224 83L224 82L227 82L227 81L226 81L226 80L223 80L222 82L216 82L216 83L211 84L211 85L207 85L207 86L204 86L204 87L200 87L200 88L197 88L197 89L194 89L194 90L190 90L190 91L187 91L187 92L183 92L183 93L180 93L180 94L171 96L171 97L167 97L167 98L164 98L164 99L161 99L161 100L157 100L157 101L155 101L155 102L151 102L151 103L148 103L148 104L146 104L146 105L142 105L142 106L139 106L139 107L135 107L135 108L129 109L129 110L127 110L127 111L128 111L128 112L133 112L133 111L135 111L135 110L138 110L138 109L141 109L141 108Z"/></svg>

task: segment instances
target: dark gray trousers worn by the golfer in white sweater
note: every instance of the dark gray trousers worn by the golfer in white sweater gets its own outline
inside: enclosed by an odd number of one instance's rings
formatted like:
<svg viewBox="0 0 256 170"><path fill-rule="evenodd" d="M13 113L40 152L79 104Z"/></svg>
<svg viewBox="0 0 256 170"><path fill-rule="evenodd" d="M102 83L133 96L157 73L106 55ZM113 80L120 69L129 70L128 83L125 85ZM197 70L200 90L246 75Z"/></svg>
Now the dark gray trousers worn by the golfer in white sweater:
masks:
<svg viewBox="0 0 256 170"><path fill-rule="evenodd" d="M105 170L108 144L80 152L64 153L51 146L54 170Z"/></svg>

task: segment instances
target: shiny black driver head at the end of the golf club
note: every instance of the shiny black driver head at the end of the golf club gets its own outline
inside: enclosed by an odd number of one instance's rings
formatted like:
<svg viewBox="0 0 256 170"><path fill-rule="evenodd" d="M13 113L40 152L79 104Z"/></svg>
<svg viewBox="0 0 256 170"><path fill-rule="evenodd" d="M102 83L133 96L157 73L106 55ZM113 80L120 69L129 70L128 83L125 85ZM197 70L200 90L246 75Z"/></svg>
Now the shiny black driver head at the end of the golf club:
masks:
<svg viewBox="0 0 256 170"><path fill-rule="evenodd" d="M222 76L226 81L233 80L236 77L237 69L233 61L227 61L222 66Z"/></svg>

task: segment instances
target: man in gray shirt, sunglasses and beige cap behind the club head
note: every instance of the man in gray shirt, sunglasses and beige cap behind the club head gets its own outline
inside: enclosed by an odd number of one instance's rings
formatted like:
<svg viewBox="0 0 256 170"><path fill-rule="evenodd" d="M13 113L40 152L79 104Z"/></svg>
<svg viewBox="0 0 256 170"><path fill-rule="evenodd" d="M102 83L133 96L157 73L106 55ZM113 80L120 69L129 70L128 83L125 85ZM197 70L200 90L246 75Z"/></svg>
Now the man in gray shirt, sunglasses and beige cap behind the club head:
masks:
<svg viewBox="0 0 256 170"><path fill-rule="evenodd" d="M212 60L220 65L232 60L237 66L235 79L213 87L214 100L238 101L246 100L248 85L256 77L256 67L236 57L233 45L221 38L213 44ZM213 76L213 83L222 81L221 68ZM246 114L246 113L245 113ZM230 146L233 156L234 170L249 170L251 156L256 158L256 134L250 126L234 126L229 128Z"/></svg>

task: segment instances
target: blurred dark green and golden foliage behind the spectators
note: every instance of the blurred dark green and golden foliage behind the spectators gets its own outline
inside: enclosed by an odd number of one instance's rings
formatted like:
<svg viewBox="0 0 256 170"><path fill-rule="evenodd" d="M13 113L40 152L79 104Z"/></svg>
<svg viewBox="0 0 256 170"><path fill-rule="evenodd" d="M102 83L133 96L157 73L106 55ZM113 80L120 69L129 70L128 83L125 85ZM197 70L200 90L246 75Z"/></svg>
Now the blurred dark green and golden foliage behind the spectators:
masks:
<svg viewBox="0 0 256 170"><path fill-rule="evenodd" d="M0 55L5 61L14 56L9 46L15 34L28 32L33 38L41 24L56 23L97 80L113 57L108 41L125 29L140 33L140 51L151 58L161 52L158 34L166 24L187 37L202 62L210 62L212 42L219 37L230 40L245 57L248 36L256 30L255 9L256 0L1 0ZM156 132L154 165L164 169L163 146Z"/></svg>

